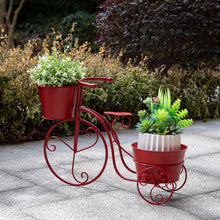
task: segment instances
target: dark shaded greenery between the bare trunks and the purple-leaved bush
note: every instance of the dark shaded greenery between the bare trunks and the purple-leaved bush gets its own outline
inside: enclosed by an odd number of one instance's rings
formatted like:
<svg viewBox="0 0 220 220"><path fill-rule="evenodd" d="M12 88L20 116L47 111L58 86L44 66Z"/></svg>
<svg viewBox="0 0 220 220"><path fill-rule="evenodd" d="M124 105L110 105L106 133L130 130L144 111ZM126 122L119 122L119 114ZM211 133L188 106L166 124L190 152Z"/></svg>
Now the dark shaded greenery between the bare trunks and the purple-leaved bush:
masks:
<svg viewBox="0 0 220 220"><path fill-rule="evenodd" d="M89 41L94 45L95 27L93 22L102 0L27 0L18 18L16 44L24 44L27 39L38 36L39 39L51 31L51 28L68 33L75 26L74 38L80 43ZM16 4L17 3L17 4ZM15 2L17 7L19 0Z"/></svg>

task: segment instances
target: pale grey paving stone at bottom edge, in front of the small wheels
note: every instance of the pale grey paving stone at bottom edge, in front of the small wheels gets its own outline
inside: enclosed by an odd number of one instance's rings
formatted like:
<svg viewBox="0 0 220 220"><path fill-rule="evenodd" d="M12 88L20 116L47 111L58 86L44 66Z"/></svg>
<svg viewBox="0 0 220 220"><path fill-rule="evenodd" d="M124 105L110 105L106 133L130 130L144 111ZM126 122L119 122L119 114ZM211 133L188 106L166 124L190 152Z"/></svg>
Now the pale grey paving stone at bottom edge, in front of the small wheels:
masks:
<svg viewBox="0 0 220 220"><path fill-rule="evenodd" d="M137 195L117 190L99 193L88 198L60 201L25 210L26 214L46 219L113 220L113 219L191 219L199 218L169 206L153 206Z"/></svg>

